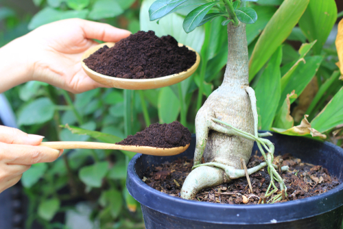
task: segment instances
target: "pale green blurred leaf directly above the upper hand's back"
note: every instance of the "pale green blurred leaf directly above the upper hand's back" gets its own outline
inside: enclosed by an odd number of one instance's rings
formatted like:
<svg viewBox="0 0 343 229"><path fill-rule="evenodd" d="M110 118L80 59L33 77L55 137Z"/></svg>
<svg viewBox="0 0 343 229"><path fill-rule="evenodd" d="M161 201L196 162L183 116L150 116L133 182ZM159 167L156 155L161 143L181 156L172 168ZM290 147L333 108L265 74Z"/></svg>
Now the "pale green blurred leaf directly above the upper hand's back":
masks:
<svg viewBox="0 0 343 229"><path fill-rule="evenodd" d="M31 21L29 22L28 28L30 30L36 29L36 27L40 27L40 25L45 25L47 23L51 23L54 21L59 21L62 19L86 19L88 14L88 10L67 10L67 11L60 11L55 10L54 8L45 8L40 10L36 15L33 16Z"/></svg>

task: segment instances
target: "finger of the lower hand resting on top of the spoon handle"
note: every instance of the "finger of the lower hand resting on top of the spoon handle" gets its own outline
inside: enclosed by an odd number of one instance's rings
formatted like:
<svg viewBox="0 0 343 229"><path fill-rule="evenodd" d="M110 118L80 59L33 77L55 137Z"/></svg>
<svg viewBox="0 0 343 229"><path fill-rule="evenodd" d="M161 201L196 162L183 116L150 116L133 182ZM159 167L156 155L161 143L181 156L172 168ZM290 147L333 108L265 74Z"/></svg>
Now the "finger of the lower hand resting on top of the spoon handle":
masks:
<svg viewBox="0 0 343 229"><path fill-rule="evenodd" d="M8 128L7 126L0 125L0 142L8 144L21 144L21 145L39 145L44 136L35 134L26 134L16 128Z"/></svg>

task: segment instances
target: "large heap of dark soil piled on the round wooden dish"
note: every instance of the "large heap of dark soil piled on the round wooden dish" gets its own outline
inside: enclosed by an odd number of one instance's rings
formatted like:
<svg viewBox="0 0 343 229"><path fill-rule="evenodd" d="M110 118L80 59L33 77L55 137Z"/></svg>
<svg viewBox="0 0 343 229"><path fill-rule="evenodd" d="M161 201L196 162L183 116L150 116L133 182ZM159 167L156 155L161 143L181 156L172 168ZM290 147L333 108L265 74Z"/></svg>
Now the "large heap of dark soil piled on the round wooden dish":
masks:
<svg viewBox="0 0 343 229"><path fill-rule="evenodd" d="M108 48L106 45L84 60L97 73L126 79L151 79L187 71L196 53L178 47L172 36L158 38L153 31L131 34Z"/></svg>

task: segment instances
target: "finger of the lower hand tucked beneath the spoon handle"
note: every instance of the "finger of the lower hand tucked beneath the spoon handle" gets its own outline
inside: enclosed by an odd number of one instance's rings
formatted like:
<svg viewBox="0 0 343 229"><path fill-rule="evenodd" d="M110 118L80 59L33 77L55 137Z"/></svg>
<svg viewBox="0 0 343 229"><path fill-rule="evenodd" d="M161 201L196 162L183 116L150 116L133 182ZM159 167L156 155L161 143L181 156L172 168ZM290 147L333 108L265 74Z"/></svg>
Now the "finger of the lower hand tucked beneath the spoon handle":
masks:
<svg viewBox="0 0 343 229"><path fill-rule="evenodd" d="M8 165L32 165L56 160L62 151L43 146L0 143L0 161Z"/></svg>

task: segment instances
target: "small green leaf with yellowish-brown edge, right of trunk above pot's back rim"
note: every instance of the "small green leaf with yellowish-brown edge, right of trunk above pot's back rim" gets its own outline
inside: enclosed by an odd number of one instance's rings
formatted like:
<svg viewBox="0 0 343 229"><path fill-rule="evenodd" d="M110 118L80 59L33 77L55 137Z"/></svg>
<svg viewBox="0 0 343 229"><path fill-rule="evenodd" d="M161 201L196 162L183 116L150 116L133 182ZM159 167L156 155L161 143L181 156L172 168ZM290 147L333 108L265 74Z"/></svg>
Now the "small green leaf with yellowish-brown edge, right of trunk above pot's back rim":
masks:
<svg viewBox="0 0 343 229"><path fill-rule="evenodd" d="M275 121L273 123L273 128L281 128L281 129L289 129L292 128L294 125L294 119L290 115L291 114L291 102L289 99L296 99L298 95L294 93L287 94L285 101L283 101L283 105L281 106L279 112L277 112L275 116Z"/></svg>

